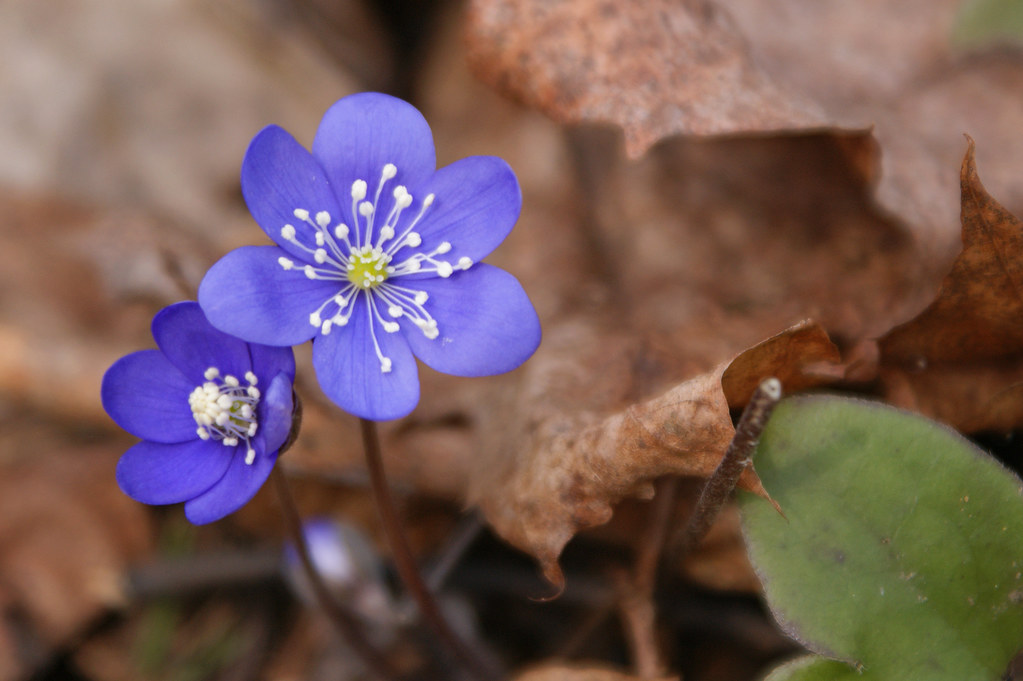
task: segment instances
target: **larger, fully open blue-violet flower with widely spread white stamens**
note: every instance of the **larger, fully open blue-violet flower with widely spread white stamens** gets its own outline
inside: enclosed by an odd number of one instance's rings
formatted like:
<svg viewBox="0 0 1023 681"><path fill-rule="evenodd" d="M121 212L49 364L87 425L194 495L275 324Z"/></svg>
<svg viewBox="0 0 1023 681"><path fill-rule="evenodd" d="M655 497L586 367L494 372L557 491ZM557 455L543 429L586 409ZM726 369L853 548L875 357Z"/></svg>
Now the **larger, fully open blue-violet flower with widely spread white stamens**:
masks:
<svg viewBox="0 0 1023 681"><path fill-rule="evenodd" d="M313 340L323 392L373 420L415 408L415 358L459 376L509 371L540 343L529 298L479 261L522 207L500 158L437 170L410 104L377 93L327 110L312 153L270 126L241 167L253 217L276 243L231 252L198 291L210 321L271 346Z"/></svg>

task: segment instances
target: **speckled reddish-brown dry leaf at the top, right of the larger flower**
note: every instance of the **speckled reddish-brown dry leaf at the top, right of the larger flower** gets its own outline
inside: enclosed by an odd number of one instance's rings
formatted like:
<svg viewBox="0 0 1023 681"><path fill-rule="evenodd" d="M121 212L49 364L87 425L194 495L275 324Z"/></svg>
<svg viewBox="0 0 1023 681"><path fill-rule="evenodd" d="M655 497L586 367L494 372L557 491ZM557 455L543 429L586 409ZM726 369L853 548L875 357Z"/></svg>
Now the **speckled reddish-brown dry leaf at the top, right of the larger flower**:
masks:
<svg viewBox="0 0 1023 681"><path fill-rule="evenodd" d="M469 43L484 81L561 123L618 124L631 156L678 133L825 125L708 0L477 0Z"/></svg>

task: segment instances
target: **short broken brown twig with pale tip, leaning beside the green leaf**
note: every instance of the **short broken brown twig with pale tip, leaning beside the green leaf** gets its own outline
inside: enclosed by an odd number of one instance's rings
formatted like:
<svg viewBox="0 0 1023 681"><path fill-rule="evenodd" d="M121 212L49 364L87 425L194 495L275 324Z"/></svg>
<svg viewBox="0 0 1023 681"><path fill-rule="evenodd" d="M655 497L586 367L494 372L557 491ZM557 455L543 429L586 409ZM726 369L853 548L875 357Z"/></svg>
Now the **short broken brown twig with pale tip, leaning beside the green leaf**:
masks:
<svg viewBox="0 0 1023 681"><path fill-rule="evenodd" d="M724 457L707 479L688 524L672 543L672 553L675 556L688 553L707 535L717 514L736 489L740 475L753 461L753 451L767 424L767 417L781 399L782 381L777 378L765 378L753 392L750 403L746 405L743 416L739 419L736 435Z"/></svg>

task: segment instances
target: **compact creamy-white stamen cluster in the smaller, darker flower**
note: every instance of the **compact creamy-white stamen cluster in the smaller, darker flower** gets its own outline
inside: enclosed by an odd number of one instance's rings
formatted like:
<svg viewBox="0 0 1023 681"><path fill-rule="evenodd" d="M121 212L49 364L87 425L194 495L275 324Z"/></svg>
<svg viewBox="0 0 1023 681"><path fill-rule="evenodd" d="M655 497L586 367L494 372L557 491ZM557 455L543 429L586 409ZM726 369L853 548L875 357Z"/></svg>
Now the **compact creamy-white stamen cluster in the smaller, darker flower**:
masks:
<svg viewBox="0 0 1023 681"><path fill-rule="evenodd" d="M203 374L206 382L198 385L188 396L188 406L198 427L195 433L201 440L220 441L226 447L246 444L246 463L256 460L256 450L252 448L252 438L259 424L256 421L256 406L260 392L256 388L258 379L252 371L246 372L249 383L242 385L231 374L220 375L220 369L211 366Z"/></svg>

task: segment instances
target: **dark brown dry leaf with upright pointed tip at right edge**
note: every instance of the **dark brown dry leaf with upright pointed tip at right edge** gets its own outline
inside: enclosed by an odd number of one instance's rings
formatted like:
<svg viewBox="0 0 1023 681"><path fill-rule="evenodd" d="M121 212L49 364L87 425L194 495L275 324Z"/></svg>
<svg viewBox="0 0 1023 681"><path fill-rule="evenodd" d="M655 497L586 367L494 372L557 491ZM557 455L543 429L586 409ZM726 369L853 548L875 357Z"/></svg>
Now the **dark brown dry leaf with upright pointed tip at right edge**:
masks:
<svg viewBox="0 0 1023 681"><path fill-rule="evenodd" d="M879 339L880 362L896 404L958 427L1011 427L1023 423L1023 408L1007 411L998 396L1023 379L1023 222L984 189L974 151L970 139L963 252L934 302Z"/></svg>

